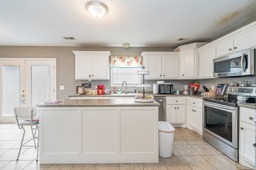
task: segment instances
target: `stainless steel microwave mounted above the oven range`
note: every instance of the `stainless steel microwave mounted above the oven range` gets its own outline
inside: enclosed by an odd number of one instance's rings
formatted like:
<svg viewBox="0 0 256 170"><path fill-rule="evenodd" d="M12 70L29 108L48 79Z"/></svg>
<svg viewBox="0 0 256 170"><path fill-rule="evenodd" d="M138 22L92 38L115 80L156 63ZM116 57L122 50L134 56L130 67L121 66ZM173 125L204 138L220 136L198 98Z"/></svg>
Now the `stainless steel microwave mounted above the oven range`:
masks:
<svg viewBox="0 0 256 170"><path fill-rule="evenodd" d="M213 59L214 77L250 76L255 72L256 49L247 49Z"/></svg>

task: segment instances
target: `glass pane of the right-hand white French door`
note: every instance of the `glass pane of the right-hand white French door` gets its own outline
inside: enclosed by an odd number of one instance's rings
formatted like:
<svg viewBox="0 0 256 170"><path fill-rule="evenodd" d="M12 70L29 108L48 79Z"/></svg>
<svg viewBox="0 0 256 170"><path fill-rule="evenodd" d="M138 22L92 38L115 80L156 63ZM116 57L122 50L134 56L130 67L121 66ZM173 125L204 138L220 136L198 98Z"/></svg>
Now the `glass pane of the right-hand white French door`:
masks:
<svg viewBox="0 0 256 170"><path fill-rule="evenodd" d="M48 65L31 66L31 106L49 100L50 74Z"/></svg>

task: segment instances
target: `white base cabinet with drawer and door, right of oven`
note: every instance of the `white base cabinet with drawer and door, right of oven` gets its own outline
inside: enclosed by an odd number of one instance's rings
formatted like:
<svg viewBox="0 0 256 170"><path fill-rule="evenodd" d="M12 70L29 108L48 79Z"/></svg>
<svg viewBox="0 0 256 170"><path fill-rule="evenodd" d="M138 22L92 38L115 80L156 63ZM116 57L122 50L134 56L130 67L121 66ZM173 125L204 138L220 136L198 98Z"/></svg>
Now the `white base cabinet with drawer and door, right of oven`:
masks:
<svg viewBox="0 0 256 170"><path fill-rule="evenodd" d="M255 162L255 109L240 107L239 163L254 169Z"/></svg>

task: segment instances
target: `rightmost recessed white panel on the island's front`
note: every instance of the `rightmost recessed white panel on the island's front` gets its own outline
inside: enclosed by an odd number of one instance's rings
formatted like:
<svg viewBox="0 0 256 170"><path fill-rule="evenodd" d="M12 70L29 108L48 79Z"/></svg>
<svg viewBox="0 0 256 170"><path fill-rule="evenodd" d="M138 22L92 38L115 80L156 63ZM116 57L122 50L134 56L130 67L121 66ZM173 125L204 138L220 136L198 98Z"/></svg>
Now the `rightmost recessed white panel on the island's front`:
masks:
<svg viewBox="0 0 256 170"><path fill-rule="evenodd" d="M120 152L154 153L156 134L152 131L156 129L148 124L155 123L154 110L120 110Z"/></svg>

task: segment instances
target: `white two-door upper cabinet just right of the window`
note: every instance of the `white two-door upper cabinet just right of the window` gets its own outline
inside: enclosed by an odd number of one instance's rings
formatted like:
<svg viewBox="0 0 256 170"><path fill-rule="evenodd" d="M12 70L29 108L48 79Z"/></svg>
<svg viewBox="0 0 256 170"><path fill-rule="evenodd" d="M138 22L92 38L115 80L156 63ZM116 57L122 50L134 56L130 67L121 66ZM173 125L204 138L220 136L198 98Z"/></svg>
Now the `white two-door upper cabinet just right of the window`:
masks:
<svg viewBox="0 0 256 170"><path fill-rule="evenodd" d="M150 71L145 80L179 78L179 52L142 52L141 55Z"/></svg>

